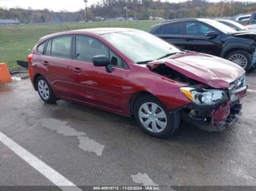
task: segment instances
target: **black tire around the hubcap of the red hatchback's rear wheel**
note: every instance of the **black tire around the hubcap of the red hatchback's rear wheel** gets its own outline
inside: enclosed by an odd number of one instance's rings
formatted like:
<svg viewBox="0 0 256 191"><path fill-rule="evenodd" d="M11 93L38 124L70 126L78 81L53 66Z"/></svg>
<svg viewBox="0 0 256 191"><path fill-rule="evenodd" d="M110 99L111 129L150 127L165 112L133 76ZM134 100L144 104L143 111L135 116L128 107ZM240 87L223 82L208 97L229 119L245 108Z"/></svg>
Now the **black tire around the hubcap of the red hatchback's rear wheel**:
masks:
<svg viewBox="0 0 256 191"><path fill-rule="evenodd" d="M39 92L39 82L45 82L45 84L48 86L48 91L49 91L49 94L47 96L48 98L43 97L43 95L41 95L42 93ZM47 104L54 104L54 103L56 103L56 101L58 99L54 95L53 90L50 87L50 84L47 81L47 79L45 79L45 77L42 77L42 76L37 77L36 86L37 86L37 92L38 92L40 98L42 99L42 101L45 101L45 103L47 103Z"/></svg>

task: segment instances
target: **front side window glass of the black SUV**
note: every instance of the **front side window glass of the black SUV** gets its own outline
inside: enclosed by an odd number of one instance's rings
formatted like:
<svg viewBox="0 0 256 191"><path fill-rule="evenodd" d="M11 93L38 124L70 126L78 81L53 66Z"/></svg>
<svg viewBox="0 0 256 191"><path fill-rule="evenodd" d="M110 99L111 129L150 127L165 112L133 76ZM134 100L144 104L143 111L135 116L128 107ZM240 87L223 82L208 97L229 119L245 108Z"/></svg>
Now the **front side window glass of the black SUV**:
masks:
<svg viewBox="0 0 256 191"><path fill-rule="evenodd" d="M214 28L206 26L203 23L189 22L186 23L187 35L191 36L206 36L208 32L217 32Z"/></svg>

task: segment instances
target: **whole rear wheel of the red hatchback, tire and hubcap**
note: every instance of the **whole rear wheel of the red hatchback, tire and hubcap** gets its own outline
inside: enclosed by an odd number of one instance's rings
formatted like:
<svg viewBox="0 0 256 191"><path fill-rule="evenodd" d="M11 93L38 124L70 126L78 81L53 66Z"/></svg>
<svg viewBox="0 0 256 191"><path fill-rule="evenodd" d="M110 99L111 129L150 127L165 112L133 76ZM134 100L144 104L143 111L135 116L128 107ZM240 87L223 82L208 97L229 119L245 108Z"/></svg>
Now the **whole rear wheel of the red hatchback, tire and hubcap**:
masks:
<svg viewBox="0 0 256 191"><path fill-rule="evenodd" d="M45 77L39 76L37 78L36 85L37 92L43 101L48 104L53 104L57 101L57 98L54 95L53 90L51 89L50 84L47 79L45 79Z"/></svg>

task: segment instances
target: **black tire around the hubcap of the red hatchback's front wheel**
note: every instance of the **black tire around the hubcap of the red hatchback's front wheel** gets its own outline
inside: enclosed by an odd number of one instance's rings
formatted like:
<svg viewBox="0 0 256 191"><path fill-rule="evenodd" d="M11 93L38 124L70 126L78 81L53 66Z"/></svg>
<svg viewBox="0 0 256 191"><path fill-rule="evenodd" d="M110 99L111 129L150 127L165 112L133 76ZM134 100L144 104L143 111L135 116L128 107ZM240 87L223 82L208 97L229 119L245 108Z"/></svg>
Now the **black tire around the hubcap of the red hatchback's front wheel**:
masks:
<svg viewBox="0 0 256 191"><path fill-rule="evenodd" d="M140 117L139 117L139 112L140 112L140 106L143 104L146 104L148 102L152 102L154 104L157 104L158 106L161 107L161 109L165 112L166 118L167 118L167 125L159 133L154 133L145 128L140 122ZM152 111L152 109L151 109ZM168 112L164 104L161 103L157 98L155 98L152 95L143 95L142 97L138 98L137 101L135 101L135 106L134 106L134 117L135 117L135 122L138 124L138 126L145 132L148 133L151 136L157 137L157 138L169 138L170 136L175 133L175 131L179 127L180 123L180 114L179 112Z"/></svg>

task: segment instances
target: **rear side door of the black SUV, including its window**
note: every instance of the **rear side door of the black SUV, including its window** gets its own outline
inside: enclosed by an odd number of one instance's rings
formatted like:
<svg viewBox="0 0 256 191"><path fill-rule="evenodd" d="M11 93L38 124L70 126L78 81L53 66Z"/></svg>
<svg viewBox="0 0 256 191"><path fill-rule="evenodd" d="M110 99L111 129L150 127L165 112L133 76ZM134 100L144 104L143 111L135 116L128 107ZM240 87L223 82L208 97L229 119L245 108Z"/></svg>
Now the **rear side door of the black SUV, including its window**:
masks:
<svg viewBox="0 0 256 191"><path fill-rule="evenodd" d="M185 48L186 40L184 36L184 23L168 23L157 29L157 34L159 38L169 42L170 44L175 44L178 47Z"/></svg>

